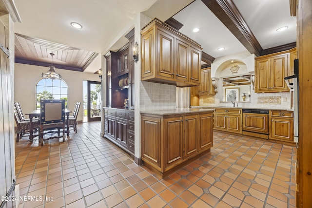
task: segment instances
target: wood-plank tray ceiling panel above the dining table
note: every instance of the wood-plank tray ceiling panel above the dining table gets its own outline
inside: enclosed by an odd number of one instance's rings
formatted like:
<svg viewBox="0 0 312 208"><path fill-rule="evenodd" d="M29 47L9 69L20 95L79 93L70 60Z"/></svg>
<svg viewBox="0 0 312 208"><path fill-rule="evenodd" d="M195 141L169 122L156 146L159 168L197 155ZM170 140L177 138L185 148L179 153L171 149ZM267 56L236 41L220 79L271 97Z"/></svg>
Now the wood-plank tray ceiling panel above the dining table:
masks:
<svg viewBox="0 0 312 208"><path fill-rule="evenodd" d="M15 34L15 62L83 72L98 53L62 45L38 38Z"/></svg>

